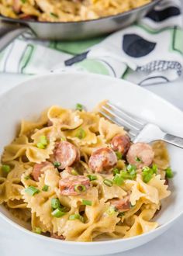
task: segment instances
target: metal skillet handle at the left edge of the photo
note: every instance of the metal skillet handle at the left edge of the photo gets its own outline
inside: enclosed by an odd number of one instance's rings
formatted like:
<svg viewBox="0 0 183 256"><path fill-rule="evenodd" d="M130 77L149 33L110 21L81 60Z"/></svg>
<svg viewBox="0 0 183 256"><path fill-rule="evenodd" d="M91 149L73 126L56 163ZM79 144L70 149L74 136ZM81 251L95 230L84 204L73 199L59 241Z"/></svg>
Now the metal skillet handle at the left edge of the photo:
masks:
<svg viewBox="0 0 183 256"><path fill-rule="evenodd" d="M28 32L29 27L12 22L0 22L0 52L12 43L22 33Z"/></svg>

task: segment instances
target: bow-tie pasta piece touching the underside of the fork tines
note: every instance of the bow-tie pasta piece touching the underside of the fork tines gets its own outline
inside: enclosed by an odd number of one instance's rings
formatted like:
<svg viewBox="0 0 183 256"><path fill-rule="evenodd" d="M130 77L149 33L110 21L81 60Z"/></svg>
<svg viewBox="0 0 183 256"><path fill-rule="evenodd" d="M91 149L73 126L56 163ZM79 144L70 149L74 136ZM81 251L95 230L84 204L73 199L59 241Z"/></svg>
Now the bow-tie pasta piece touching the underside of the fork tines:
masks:
<svg viewBox="0 0 183 256"><path fill-rule="evenodd" d="M98 130L105 141L112 140L117 134L126 134L122 126L117 126L115 123L111 123L103 117L99 121Z"/></svg>

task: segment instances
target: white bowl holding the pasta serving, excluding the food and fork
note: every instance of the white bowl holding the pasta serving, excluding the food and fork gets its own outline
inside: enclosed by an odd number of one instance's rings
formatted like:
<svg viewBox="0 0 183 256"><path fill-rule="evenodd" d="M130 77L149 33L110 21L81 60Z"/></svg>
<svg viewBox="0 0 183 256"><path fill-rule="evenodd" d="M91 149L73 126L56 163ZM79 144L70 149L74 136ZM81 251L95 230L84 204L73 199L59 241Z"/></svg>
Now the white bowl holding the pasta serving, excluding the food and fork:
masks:
<svg viewBox="0 0 183 256"><path fill-rule="evenodd" d="M0 98L0 152L15 137L16 127L21 119L32 119L48 106L60 105L74 108L77 102L92 109L103 99L115 102L136 116L156 123L168 133L183 137L183 113L147 90L127 81L107 76L84 73L63 73L44 75L25 81L12 88ZM3 207L0 216L13 224L29 238L40 240L44 247L50 247L67 254L98 255L126 251L162 234L183 212L183 172L182 150L168 147L171 167L175 172L171 181L171 196L164 200L161 212L157 215L160 227L150 233L127 239L106 240L91 243L69 242L33 234L25 223L17 220Z"/></svg>

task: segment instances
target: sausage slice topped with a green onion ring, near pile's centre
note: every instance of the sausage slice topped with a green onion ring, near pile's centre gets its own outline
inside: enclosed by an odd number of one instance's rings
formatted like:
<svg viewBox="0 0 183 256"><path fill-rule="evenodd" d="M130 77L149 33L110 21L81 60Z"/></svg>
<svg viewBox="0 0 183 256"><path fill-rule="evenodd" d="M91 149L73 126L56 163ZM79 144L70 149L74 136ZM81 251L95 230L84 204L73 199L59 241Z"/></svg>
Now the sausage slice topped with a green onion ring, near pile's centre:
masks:
<svg viewBox="0 0 183 256"><path fill-rule="evenodd" d="M80 195L90 188L88 177L77 175L67 176L59 181L61 195Z"/></svg>

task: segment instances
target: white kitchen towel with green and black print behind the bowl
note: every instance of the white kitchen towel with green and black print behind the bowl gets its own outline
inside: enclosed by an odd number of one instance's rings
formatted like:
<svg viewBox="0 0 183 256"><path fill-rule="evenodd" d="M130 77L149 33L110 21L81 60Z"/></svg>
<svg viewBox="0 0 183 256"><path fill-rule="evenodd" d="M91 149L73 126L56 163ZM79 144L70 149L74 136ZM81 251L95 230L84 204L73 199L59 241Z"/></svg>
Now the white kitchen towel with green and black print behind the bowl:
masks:
<svg viewBox="0 0 183 256"><path fill-rule="evenodd" d="M43 42L26 34L0 53L0 71L85 71L138 85L173 81L183 67L182 25L181 1L164 0L126 29L93 40Z"/></svg>

